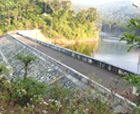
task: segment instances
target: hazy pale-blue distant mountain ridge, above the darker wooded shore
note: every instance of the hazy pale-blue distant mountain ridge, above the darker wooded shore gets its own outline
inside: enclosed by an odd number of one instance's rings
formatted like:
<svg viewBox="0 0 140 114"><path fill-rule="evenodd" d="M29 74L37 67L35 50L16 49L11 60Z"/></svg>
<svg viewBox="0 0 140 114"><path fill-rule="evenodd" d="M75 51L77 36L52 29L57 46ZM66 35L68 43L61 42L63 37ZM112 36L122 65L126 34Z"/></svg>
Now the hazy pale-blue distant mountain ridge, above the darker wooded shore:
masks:
<svg viewBox="0 0 140 114"><path fill-rule="evenodd" d="M80 11L81 9L95 7L98 9L98 13L103 19L128 22L131 18L140 17L140 9L135 8L132 6L132 4L133 2L131 1L122 0L91 5L73 3L72 7L76 12Z"/></svg>

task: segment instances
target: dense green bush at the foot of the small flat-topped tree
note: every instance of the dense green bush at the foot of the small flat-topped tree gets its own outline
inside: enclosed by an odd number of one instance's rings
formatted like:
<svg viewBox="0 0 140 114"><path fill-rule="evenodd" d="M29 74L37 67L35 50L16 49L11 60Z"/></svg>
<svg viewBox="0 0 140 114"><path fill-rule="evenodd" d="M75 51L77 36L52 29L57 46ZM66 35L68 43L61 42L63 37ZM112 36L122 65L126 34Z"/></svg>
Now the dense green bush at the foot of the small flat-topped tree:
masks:
<svg viewBox="0 0 140 114"><path fill-rule="evenodd" d="M32 78L26 79L13 79L11 80L11 92L12 96L9 96L9 100L14 100L20 105L26 105L27 103L32 103L31 98L36 96L43 96L43 93L46 91L46 85L38 82Z"/></svg>

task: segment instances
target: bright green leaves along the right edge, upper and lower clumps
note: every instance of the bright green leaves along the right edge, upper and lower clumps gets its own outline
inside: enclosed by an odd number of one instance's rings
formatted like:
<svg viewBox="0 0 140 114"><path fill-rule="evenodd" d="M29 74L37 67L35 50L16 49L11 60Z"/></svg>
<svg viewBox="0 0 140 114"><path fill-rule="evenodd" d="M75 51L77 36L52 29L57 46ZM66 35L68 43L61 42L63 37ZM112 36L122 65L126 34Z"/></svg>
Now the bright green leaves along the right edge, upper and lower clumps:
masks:
<svg viewBox="0 0 140 114"><path fill-rule="evenodd" d="M140 47L140 38L139 36L134 35L134 30L137 30L140 33L140 19L134 19L132 18L130 22L127 25L127 32L123 33L123 37L120 39L120 41L125 40L127 41L128 45L131 45L128 49L128 52L131 51L133 47ZM140 65L140 61L138 62L138 65ZM139 71L139 69L138 69ZM133 85L133 87L136 89L135 94L137 95L137 99L135 100L135 103L139 106L140 105L140 78L139 76L126 76L124 79L127 79L128 82L126 82L127 85Z"/></svg>

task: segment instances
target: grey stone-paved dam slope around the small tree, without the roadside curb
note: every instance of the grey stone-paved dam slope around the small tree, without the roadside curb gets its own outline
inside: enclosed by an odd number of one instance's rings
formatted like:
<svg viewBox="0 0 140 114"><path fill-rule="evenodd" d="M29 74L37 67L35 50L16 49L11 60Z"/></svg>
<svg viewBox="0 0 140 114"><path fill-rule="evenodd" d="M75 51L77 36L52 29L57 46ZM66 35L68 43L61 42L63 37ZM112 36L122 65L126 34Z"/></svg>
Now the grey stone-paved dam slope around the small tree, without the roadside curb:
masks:
<svg viewBox="0 0 140 114"><path fill-rule="evenodd" d="M13 75L11 74L8 77L9 80L17 77L22 78L25 72L24 64L16 59L15 56L18 54L23 54L25 56L31 55L36 59L28 66L27 77L34 78L44 84L52 84L55 81L59 81L64 89L80 89L80 87L66 77L68 74L65 73L58 64L52 63L51 59L40 56L38 53L12 39L10 36L6 36L6 39L1 42L0 51L0 62L5 59L7 61L5 65L11 67L10 70Z"/></svg>

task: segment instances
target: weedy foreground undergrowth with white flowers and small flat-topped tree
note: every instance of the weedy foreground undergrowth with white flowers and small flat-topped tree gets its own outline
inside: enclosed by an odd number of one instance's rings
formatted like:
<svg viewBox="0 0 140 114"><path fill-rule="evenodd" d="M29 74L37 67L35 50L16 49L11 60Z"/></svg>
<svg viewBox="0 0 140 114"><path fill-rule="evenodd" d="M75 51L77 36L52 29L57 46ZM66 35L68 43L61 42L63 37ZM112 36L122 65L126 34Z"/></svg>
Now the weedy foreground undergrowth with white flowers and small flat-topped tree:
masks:
<svg viewBox="0 0 140 114"><path fill-rule="evenodd" d="M63 89L59 82L46 85L27 77L28 65L35 58L17 55L25 65L22 78L8 80L8 69L1 65L0 71L0 113L5 114L111 114L110 107L93 99L90 89L81 93L79 90Z"/></svg>

